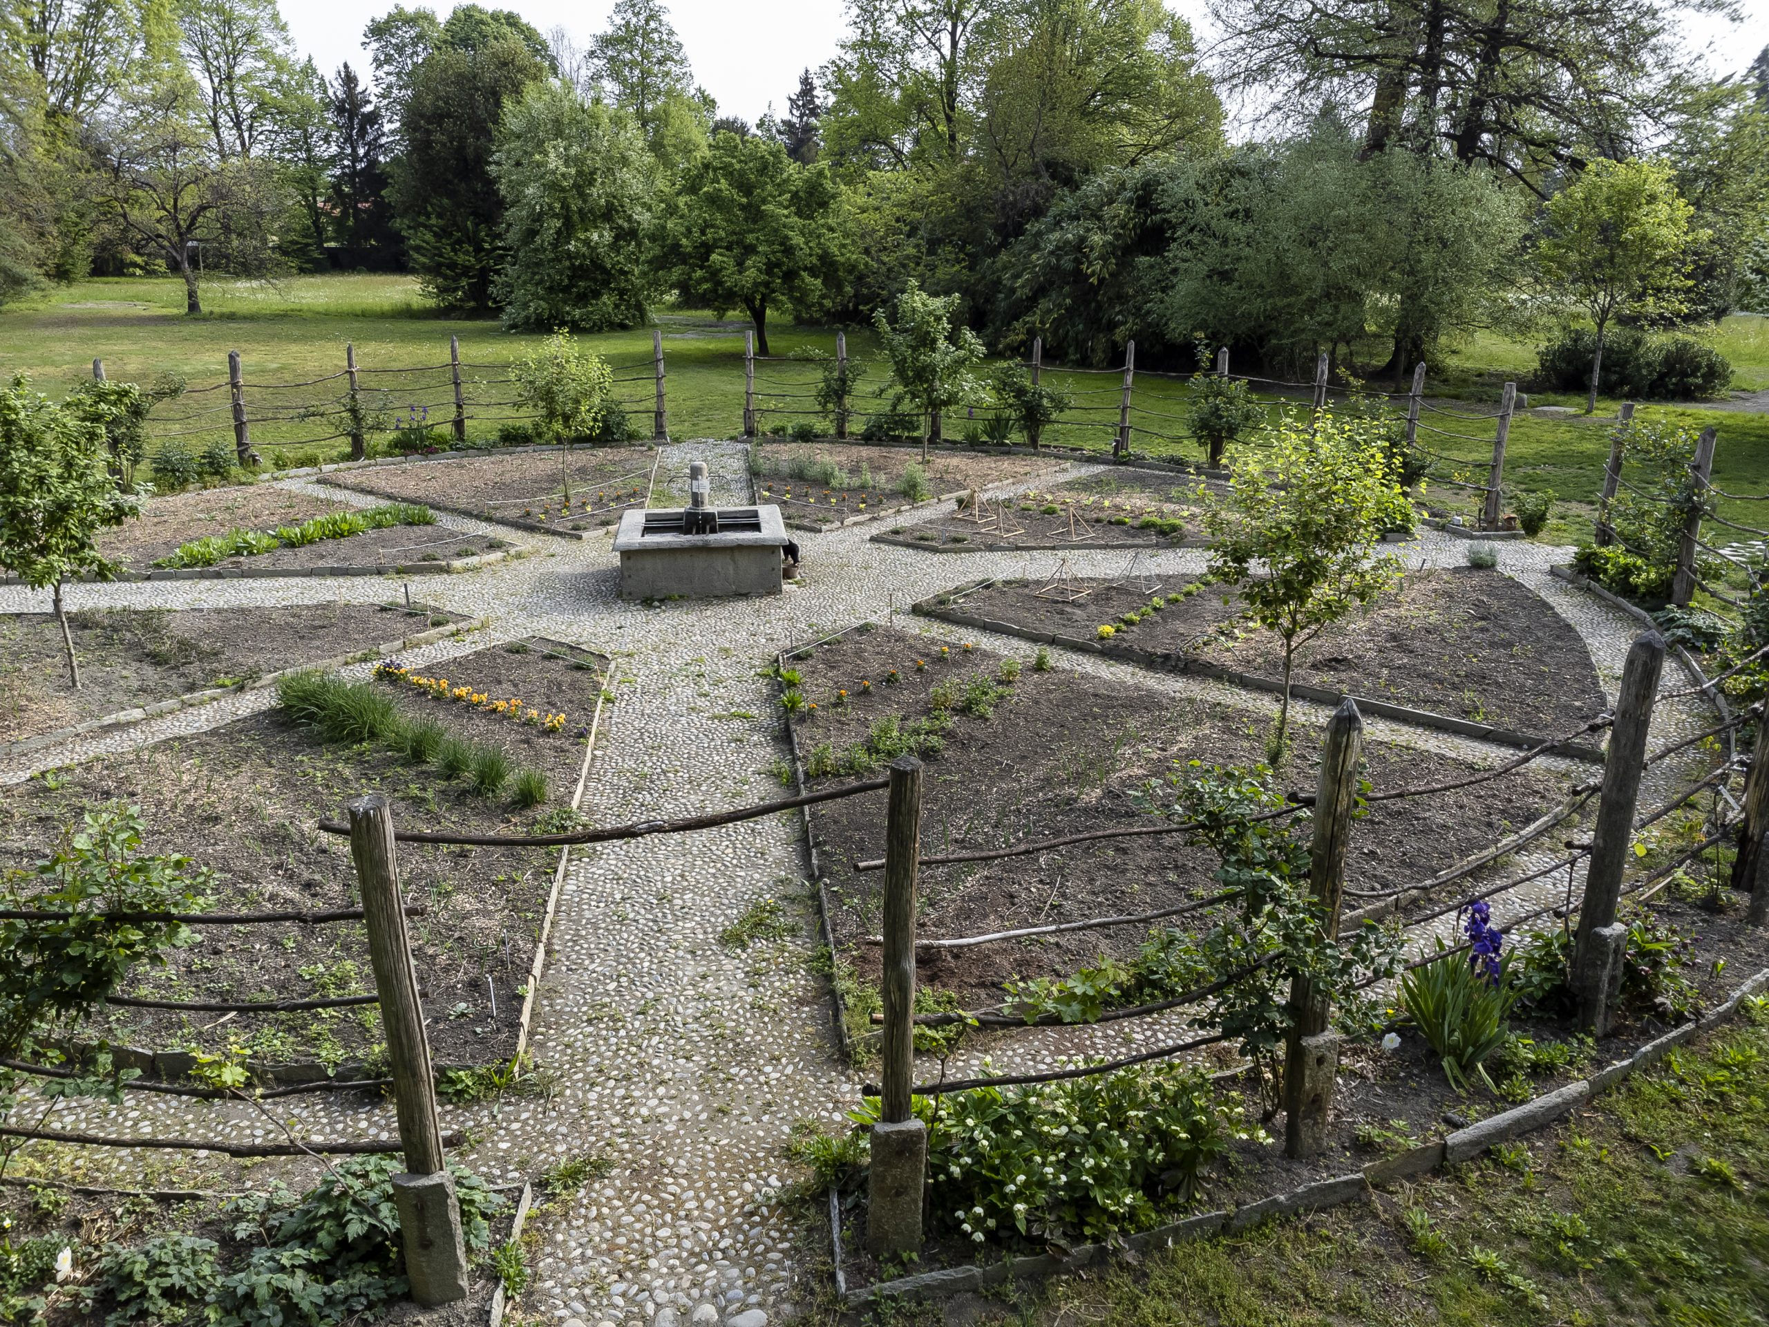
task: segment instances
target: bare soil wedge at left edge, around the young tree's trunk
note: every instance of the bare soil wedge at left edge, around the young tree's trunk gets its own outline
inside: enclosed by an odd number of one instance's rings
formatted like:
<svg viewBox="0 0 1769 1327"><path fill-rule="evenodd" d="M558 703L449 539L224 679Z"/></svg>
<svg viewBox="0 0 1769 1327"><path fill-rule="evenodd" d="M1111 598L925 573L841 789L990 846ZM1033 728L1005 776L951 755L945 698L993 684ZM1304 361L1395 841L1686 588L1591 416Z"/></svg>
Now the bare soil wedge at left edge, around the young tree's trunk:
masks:
<svg viewBox="0 0 1769 1327"><path fill-rule="evenodd" d="M465 617L393 603L83 609L67 614L80 658L76 692L69 685L55 616L0 616L0 741L53 733L211 687L237 687L455 621Z"/></svg>

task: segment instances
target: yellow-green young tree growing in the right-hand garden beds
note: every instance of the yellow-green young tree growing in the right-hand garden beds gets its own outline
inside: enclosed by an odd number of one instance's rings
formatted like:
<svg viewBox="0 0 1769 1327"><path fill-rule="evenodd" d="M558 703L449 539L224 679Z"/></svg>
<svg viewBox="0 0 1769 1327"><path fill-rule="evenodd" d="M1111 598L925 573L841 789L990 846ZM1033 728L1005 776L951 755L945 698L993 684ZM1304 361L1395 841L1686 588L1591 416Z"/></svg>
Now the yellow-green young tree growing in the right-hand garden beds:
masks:
<svg viewBox="0 0 1769 1327"><path fill-rule="evenodd" d="M1311 435L1313 428L1313 435ZM1261 465L1237 467L1229 490L1199 485L1210 573L1240 594L1242 617L1284 649L1284 690L1268 757L1290 734L1290 678L1297 651L1401 575L1376 554L1387 529L1410 520L1383 435L1362 419L1290 416L1270 432Z"/></svg>

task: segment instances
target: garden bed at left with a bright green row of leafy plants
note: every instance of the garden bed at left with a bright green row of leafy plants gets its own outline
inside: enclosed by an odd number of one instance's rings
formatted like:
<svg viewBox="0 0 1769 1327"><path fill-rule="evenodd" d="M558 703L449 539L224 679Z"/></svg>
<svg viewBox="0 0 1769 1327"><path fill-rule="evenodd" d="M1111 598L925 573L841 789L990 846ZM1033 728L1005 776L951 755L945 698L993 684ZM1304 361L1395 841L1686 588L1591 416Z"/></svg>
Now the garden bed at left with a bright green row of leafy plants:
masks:
<svg viewBox="0 0 1769 1327"><path fill-rule="evenodd" d="M182 545L244 529L269 533L315 517L356 511L274 485L202 488L142 504L142 515L104 531L99 550L126 568L126 580L191 580L287 575L405 575L458 571L509 556L506 540L465 534L444 525L389 525L302 547L278 547L249 557L225 557L212 566L154 566Z"/></svg>

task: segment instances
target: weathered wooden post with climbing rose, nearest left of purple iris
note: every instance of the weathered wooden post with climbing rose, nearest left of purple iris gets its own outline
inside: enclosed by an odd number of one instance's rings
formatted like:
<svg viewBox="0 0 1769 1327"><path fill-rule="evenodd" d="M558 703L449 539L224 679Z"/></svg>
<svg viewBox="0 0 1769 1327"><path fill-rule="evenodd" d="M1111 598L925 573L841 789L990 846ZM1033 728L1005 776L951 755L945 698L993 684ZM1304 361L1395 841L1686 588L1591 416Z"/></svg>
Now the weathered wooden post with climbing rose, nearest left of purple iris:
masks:
<svg viewBox="0 0 1769 1327"><path fill-rule="evenodd" d="M1309 844L1309 894L1320 932L1339 934L1344 902L1344 851L1352 839L1357 763L1364 754L1364 717L1350 699L1327 720L1321 773L1314 793L1314 837ZM1284 1155L1313 1157L1327 1148L1327 1113L1339 1070L1339 1033L1330 1030L1332 991L1306 977L1290 984L1293 1028L1284 1047Z"/></svg>

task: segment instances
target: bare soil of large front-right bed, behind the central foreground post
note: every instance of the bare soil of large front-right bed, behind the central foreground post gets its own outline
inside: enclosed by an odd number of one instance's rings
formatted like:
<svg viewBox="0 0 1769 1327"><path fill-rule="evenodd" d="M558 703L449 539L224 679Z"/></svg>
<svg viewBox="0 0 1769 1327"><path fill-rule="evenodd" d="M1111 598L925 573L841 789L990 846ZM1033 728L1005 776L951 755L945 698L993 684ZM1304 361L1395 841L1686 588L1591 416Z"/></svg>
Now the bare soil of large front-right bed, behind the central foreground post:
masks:
<svg viewBox="0 0 1769 1327"><path fill-rule="evenodd" d="M936 651L936 653L929 653ZM925 669L916 669L916 658ZM1001 656L953 646L945 658L925 637L890 628L849 632L789 662L816 710L794 720L801 759L817 766L828 743L839 756L886 717L925 717L934 687L978 674L999 678ZM897 669L900 681L884 681ZM862 683L870 681L870 692ZM846 690L842 701L839 692ZM1168 773L1194 777L1187 763L1256 764L1265 715L1206 706L1155 690L1070 671L1026 669L989 717L952 711L945 747L929 757L922 842L929 853L999 848L1091 830L1150 825L1132 794ZM1318 734L1297 733L1286 787L1313 791ZM1445 756L1371 741L1367 779L1378 787L1438 782L1472 766ZM812 787L842 775L812 779ZM1564 780L1534 770L1429 800L1375 803L1352 840L1350 885L1394 888L1521 828L1564 796ZM877 977L881 872L856 860L883 851L884 794L812 809L812 833L828 883L837 950L862 980ZM1205 895L1217 862L1180 835L1109 839L1042 856L976 865L925 867L920 927L929 938L980 934L1086 917L1153 911ZM1203 915L1199 915L1203 917ZM1196 920L1196 918L1194 918ZM1146 938L1141 927L1070 932L964 950L930 950L922 980L955 993L968 1009L999 1000L1010 977L1060 977L1099 954L1125 959Z"/></svg>

